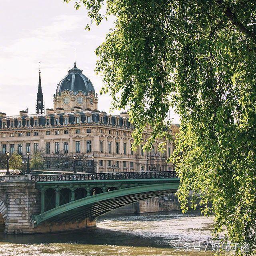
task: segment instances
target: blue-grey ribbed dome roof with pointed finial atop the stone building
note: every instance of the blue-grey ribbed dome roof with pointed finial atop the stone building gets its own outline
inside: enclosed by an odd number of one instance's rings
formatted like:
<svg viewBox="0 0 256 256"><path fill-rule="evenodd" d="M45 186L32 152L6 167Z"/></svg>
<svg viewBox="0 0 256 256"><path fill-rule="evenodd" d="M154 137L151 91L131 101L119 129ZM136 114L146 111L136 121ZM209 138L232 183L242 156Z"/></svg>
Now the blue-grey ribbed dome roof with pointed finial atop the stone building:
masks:
<svg viewBox="0 0 256 256"><path fill-rule="evenodd" d="M68 74L58 84L56 95L64 90L72 91L75 95L78 94L78 92L82 92L85 95L90 91L95 93L92 82L88 77L82 74L82 70L76 67L76 62L74 68L68 70Z"/></svg>

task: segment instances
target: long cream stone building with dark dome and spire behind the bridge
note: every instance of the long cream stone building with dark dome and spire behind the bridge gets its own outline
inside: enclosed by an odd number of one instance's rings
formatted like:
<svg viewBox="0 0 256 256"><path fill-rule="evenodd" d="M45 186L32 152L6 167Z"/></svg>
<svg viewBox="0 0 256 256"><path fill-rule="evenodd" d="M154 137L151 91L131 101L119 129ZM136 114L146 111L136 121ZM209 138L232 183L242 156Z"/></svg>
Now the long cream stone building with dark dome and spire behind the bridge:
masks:
<svg viewBox="0 0 256 256"><path fill-rule="evenodd" d="M74 156L77 171L82 172L173 169L172 163L166 163L172 154L171 143L166 144L164 153L157 149L161 141L156 141L150 153L142 149L150 127L143 133L138 150L131 150L133 126L128 114L99 111L94 86L76 62L58 83L53 102L53 109L47 108L45 113L39 70L36 114L29 114L28 109L16 116L0 112L1 152L26 156L29 151L33 157L41 150L45 168L51 171L72 170Z"/></svg>

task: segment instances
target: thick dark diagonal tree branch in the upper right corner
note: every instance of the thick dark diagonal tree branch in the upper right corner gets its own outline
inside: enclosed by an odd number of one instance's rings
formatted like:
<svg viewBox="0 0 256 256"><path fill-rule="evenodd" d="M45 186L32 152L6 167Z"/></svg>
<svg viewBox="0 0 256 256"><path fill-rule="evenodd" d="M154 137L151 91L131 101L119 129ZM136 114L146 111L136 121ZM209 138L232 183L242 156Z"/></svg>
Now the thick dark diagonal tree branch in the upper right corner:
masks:
<svg viewBox="0 0 256 256"><path fill-rule="evenodd" d="M226 6L225 2L222 0L214 0L214 2L218 4L218 6L222 9L224 14L238 29L256 44L256 34L248 30L248 28L238 20L236 15L231 11L230 7Z"/></svg>

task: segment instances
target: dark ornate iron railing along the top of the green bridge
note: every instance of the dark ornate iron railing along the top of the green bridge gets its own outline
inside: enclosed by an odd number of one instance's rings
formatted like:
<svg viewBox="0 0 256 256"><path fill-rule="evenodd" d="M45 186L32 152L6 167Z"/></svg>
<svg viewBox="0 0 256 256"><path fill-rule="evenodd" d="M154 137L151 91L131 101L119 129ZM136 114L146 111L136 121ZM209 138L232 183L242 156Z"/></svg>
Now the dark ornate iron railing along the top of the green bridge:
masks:
<svg viewBox="0 0 256 256"><path fill-rule="evenodd" d="M72 181L72 180L132 180L178 178L175 171L156 172L103 172L77 174L40 174L32 175L32 181Z"/></svg>

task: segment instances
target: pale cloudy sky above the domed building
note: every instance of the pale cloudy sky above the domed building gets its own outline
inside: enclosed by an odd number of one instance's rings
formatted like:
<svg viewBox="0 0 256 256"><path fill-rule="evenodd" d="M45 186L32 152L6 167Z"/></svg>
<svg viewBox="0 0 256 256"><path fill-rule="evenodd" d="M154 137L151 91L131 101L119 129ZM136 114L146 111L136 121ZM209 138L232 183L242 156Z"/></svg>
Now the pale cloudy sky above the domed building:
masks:
<svg viewBox="0 0 256 256"><path fill-rule="evenodd" d="M57 84L74 66L92 81L98 92L98 109L109 112L111 98L99 95L102 79L94 72L95 48L105 38L114 18L84 30L89 19L85 8L75 10L63 0L0 1L0 112L18 115L28 108L35 114L38 65L41 62L45 108L53 108ZM118 113L116 111L115 113ZM178 122L178 115L171 111Z"/></svg>

